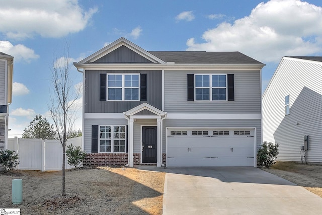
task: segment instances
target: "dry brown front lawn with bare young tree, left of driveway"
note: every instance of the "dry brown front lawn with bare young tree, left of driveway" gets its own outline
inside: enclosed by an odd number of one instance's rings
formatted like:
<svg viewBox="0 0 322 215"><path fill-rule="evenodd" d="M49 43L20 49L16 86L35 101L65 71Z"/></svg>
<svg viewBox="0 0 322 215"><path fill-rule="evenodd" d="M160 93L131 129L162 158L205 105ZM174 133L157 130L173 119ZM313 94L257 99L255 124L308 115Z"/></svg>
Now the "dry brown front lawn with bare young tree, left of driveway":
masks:
<svg viewBox="0 0 322 215"><path fill-rule="evenodd" d="M23 204L12 205L12 180L23 179ZM66 172L15 171L0 174L0 208L22 214L162 214L165 173L135 168L93 168Z"/></svg>

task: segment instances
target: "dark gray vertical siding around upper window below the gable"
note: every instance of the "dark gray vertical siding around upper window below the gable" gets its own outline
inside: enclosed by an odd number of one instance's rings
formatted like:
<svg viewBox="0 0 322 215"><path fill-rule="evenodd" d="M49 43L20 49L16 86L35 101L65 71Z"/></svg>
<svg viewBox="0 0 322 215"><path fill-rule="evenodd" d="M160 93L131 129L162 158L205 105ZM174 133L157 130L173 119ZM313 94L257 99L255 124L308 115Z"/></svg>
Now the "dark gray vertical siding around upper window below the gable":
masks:
<svg viewBox="0 0 322 215"><path fill-rule="evenodd" d="M147 101L100 101L100 74L147 74ZM162 71L160 70L86 70L85 113L123 113L144 102L162 109Z"/></svg>

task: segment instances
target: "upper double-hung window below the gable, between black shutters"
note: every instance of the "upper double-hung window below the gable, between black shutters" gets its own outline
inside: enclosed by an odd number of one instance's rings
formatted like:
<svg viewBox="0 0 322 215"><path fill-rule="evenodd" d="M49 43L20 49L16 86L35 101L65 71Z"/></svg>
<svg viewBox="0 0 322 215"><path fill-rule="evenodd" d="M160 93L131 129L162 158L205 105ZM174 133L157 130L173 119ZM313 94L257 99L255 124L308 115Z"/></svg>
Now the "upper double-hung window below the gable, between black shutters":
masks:
<svg viewBox="0 0 322 215"><path fill-rule="evenodd" d="M139 101L139 74L108 74L108 101Z"/></svg>

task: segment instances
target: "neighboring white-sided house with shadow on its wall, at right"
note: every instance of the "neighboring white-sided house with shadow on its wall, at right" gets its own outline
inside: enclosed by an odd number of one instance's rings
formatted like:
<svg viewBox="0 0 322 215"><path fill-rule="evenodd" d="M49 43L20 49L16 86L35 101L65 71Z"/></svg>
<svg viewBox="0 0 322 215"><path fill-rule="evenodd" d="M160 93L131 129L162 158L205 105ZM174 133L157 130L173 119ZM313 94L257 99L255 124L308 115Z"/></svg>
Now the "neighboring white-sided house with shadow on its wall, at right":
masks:
<svg viewBox="0 0 322 215"><path fill-rule="evenodd" d="M280 144L279 161L322 162L322 57L283 57L263 94L263 141Z"/></svg>

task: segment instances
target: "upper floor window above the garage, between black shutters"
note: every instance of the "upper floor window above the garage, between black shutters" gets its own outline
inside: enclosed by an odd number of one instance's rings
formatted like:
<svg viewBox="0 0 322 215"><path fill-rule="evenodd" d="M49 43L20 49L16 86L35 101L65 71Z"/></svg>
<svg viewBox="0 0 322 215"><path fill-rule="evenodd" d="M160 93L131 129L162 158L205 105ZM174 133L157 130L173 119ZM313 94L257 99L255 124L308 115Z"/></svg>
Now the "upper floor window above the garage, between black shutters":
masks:
<svg viewBox="0 0 322 215"><path fill-rule="evenodd" d="M196 101L227 101L227 75L195 75Z"/></svg>

